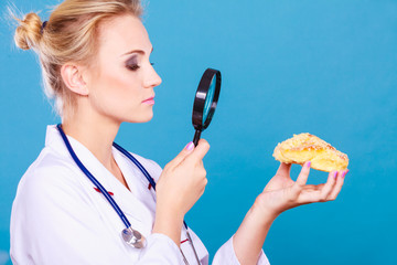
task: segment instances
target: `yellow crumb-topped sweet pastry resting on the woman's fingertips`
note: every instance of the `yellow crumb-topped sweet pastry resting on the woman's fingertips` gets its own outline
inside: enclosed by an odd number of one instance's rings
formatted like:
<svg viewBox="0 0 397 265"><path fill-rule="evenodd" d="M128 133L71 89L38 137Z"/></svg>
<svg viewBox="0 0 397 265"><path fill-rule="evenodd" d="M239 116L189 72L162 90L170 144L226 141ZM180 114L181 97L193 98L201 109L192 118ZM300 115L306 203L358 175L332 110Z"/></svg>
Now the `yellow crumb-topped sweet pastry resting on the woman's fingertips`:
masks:
<svg viewBox="0 0 397 265"><path fill-rule="evenodd" d="M345 153L308 132L293 135L292 138L278 144L272 156L285 163L303 165L310 160L311 168L326 172L344 170L348 165Z"/></svg>

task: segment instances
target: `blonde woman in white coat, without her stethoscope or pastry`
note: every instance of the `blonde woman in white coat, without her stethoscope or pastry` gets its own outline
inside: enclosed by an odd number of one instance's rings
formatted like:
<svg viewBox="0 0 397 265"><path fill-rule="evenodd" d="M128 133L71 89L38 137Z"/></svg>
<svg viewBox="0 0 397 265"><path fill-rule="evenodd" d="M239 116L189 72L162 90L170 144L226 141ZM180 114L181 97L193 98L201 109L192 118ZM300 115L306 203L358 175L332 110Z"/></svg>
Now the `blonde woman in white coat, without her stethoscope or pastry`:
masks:
<svg viewBox="0 0 397 265"><path fill-rule="evenodd" d="M203 243L183 225L207 182L207 141L187 144L163 170L133 155L154 179L155 192L112 146L121 123L152 118L153 88L161 83L149 61L152 45L141 12L139 0L66 0L47 22L35 13L20 21L15 43L39 54L62 126L47 127L45 147L19 184L11 214L14 264L208 263ZM77 166L67 142L105 192ZM334 200L346 173L305 186L309 171L310 161L294 182L290 165L281 163L213 264L269 264L261 246L272 221L288 209ZM125 224L103 193L146 237L144 247L126 244Z"/></svg>

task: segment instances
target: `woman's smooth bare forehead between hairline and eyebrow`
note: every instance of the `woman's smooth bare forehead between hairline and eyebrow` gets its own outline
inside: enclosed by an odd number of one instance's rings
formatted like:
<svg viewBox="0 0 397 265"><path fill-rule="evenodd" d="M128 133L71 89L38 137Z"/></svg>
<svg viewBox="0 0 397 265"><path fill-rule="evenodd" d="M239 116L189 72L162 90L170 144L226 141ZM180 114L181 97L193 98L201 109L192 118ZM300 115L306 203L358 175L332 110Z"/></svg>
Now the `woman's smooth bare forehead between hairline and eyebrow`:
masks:
<svg viewBox="0 0 397 265"><path fill-rule="evenodd" d="M118 15L104 21L98 26L99 53L122 54L131 50L148 50L151 43L140 19L130 15Z"/></svg>

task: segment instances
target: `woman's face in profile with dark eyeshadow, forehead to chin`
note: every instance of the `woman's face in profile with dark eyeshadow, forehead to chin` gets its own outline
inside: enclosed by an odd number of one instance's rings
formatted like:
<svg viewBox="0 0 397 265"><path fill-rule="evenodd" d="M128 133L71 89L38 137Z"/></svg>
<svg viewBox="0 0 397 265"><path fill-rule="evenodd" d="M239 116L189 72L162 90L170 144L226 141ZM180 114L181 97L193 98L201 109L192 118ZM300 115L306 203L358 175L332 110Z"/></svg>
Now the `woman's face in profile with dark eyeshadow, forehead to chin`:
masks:
<svg viewBox="0 0 397 265"><path fill-rule="evenodd" d="M149 61L152 45L143 24L132 15L117 17L99 25L98 40L86 82L89 105L116 123L149 121L154 104L150 98L161 78Z"/></svg>

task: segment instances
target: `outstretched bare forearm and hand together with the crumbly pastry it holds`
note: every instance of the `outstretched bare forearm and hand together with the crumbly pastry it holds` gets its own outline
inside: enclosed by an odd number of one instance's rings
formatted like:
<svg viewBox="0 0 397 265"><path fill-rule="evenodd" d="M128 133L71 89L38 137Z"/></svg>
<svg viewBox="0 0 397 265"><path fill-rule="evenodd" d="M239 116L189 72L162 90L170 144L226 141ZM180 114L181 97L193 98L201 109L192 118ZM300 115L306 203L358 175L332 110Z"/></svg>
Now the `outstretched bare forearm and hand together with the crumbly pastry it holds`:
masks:
<svg viewBox="0 0 397 265"><path fill-rule="evenodd" d="M335 200L348 171L346 155L310 134L279 144L273 156L281 165L233 237L242 264L257 264L271 223L280 213L307 203ZM303 165L296 181L290 177L291 163ZM325 183L307 184L311 167L330 172Z"/></svg>

